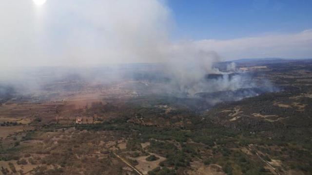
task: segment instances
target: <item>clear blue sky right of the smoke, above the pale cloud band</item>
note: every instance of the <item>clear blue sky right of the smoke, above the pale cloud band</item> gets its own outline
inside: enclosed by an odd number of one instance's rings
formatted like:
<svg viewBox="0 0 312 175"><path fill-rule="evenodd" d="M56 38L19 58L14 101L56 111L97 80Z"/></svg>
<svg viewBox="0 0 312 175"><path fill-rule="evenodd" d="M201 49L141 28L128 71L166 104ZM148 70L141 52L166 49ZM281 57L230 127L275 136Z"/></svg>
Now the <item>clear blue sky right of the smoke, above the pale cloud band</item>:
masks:
<svg viewBox="0 0 312 175"><path fill-rule="evenodd" d="M168 0L172 37L234 39L312 29L312 0Z"/></svg>

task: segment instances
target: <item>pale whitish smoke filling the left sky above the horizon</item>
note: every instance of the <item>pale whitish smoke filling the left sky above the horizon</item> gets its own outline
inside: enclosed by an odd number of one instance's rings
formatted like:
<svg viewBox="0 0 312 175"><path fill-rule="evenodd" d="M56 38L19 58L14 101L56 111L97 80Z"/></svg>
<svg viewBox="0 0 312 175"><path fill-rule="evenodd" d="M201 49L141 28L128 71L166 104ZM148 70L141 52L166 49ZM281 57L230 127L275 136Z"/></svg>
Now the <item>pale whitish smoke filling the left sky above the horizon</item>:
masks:
<svg viewBox="0 0 312 175"><path fill-rule="evenodd" d="M158 62L170 12L158 0L0 2L2 66Z"/></svg>

